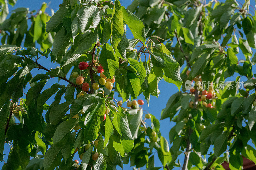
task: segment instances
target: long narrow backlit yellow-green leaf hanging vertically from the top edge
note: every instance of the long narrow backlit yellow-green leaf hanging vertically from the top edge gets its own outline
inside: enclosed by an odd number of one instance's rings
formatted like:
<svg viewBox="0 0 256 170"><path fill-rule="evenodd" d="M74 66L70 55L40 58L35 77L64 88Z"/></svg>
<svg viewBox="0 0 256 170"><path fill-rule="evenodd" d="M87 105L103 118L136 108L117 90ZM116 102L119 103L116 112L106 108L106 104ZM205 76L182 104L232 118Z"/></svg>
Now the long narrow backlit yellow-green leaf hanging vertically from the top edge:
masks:
<svg viewBox="0 0 256 170"><path fill-rule="evenodd" d="M123 11L119 0L115 1L112 18L112 46L117 48L124 34Z"/></svg>

